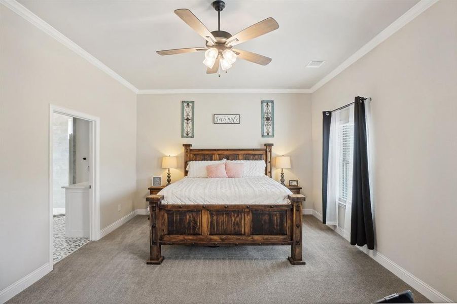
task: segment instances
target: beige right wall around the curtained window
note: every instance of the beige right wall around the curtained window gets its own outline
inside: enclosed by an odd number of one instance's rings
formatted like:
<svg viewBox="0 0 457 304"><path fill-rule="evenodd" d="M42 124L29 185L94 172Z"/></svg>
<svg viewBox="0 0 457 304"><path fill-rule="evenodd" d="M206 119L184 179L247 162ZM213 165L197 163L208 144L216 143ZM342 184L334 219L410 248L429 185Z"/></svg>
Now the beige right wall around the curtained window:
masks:
<svg viewBox="0 0 457 304"><path fill-rule="evenodd" d="M313 201L322 111L372 97L377 251L457 301L457 2L440 1L312 94Z"/></svg>

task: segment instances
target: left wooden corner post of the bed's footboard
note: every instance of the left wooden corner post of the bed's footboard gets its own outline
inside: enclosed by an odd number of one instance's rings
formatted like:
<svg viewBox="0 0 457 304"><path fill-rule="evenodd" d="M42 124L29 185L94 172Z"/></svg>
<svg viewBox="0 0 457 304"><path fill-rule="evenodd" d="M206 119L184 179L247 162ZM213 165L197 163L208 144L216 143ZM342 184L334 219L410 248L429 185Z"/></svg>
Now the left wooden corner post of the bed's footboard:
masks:
<svg viewBox="0 0 457 304"><path fill-rule="evenodd" d="M163 261L160 245L160 231L162 229L159 217L159 205L163 195L150 195L146 198L149 202L149 259L147 264L160 265Z"/></svg>

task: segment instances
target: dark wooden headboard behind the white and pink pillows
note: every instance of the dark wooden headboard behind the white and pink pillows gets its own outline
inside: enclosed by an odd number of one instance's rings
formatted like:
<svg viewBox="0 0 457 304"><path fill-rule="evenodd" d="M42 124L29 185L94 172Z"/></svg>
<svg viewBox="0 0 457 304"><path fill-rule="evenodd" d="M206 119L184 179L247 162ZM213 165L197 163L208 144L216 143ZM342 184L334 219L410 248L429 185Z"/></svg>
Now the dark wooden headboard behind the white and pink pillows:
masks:
<svg viewBox="0 0 457 304"><path fill-rule="evenodd" d="M184 176L187 176L187 163L190 161L257 161L266 163L265 175L271 177L271 147L266 143L263 149L192 149L191 143L184 143Z"/></svg>

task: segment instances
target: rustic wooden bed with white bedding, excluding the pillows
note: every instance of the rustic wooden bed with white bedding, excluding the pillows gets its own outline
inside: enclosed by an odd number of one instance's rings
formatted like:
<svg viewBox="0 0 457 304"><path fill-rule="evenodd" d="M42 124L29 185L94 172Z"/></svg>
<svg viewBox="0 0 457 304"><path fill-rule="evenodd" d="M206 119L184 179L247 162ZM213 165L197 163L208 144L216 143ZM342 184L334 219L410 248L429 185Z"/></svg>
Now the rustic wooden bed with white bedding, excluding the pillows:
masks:
<svg viewBox="0 0 457 304"><path fill-rule="evenodd" d="M183 144L185 178L147 197L150 256L161 264L162 245L291 246L291 264L302 259L303 195L293 195L271 179L273 144L255 149L192 149ZM256 178L187 177L191 161L257 160L265 176Z"/></svg>

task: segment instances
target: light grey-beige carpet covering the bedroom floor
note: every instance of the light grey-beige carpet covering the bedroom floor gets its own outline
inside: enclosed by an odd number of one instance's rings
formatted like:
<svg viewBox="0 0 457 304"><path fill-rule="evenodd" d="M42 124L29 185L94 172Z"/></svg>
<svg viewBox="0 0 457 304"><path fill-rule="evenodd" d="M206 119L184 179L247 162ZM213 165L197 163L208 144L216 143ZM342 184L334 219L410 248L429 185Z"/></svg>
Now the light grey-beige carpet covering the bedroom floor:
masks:
<svg viewBox="0 0 457 304"><path fill-rule="evenodd" d="M312 216L304 217L306 265L288 246L163 246L146 265L149 229L138 215L54 265L10 303L370 303L411 289Z"/></svg>

